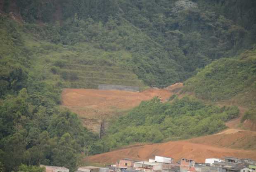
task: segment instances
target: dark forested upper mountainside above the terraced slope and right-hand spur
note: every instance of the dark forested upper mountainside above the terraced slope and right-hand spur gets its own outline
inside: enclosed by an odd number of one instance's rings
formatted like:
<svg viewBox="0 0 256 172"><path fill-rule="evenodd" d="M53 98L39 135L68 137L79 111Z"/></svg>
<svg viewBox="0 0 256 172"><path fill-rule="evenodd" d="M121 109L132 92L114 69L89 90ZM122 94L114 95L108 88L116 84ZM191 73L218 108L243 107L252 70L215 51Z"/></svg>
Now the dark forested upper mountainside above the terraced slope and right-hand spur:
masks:
<svg viewBox="0 0 256 172"><path fill-rule="evenodd" d="M109 56L97 56L99 59L125 67L145 84L156 87L185 80L197 73L197 68L234 55L255 42L253 0L16 0L16 4L29 23L28 32L55 44L87 42L110 52ZM6 5L7 12L10 7ZM47 24L38 27L35 21ZM120 51L112 57L111 52ZM39 52L45 52L43 47ZM66 78L68 74L63 75Z"/></svg>

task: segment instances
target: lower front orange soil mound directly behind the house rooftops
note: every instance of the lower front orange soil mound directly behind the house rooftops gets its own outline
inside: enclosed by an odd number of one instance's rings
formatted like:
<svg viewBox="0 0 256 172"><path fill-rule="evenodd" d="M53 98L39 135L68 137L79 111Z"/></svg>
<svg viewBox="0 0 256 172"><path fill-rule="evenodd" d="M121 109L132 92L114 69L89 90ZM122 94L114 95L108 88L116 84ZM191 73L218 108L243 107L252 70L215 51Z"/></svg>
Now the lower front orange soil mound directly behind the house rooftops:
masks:
<svg viewBox="0 0 256 172"><path fill-rule="evenodd" d="M115 163L120 158L147 160L154 155L173 157L176 161L181 158L191 158L203 163L206 158L223 158L232 156L238 158L252 158L256 160L256 151L220 148L188 141L170 141L162 144L149 144L133 148L124 148L95 156L89 156L88 161L93 163Z"/></svg>

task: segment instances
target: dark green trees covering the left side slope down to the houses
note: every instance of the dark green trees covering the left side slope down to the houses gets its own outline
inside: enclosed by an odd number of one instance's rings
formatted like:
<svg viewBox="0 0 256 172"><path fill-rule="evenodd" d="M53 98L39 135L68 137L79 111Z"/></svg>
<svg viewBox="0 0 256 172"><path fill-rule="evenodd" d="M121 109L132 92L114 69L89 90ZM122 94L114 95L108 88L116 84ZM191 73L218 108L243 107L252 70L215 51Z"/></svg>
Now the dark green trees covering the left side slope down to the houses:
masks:
<svg viewBox="0 0 256 172"><path fill-rule="evenodd" d="M32 65L35 52L21 41L22 27L6 16L0 20L0 170L40 172L26 165L45 164L75 171L78 155L85 147L93 152L90 147L97 136L82 126L76 114L57 107L61 87L44 82L51 61L46 59L37 72ZM57 74L63 63L55 64L59 66L52 72ZM76 80L76 73L69 79Z"/></svg>

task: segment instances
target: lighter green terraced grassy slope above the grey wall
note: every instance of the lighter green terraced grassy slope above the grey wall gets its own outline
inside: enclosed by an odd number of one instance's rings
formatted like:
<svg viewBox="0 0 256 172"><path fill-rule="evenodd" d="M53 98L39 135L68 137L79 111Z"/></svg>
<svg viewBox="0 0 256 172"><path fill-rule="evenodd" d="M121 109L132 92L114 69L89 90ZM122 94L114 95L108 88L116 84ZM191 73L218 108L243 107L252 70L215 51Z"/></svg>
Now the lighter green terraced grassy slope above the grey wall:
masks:
<svg viewBox="0 0 256 172"><path fill-rule="evenodd" d="M30 33L22 33L22 38L25 47L33 52L30 74L42 75L45 82L62 88L97 88L98 84L145 86L137 75L114 61L115 58L130 58L129 52L104 52L87 42L56 45L38 40ZM67 75L67 79L63 75Z"/></svg>

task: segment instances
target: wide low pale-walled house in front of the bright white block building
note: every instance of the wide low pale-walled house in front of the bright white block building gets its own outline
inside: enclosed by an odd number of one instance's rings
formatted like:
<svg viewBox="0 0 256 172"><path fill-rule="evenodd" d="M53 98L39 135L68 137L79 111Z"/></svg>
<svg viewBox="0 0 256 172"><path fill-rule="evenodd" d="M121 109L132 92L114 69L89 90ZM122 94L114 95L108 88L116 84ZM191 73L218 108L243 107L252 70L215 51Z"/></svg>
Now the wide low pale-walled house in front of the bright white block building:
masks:
<svg viewBox="0 0 256 172"><path fill-rule="evenodd" d="M140 162L135 162L133 167L135 168L135 170L142 170L145 172L155 172L155 171L161 171L162 165L163 165L162 163L140 161Z"/></svg>

